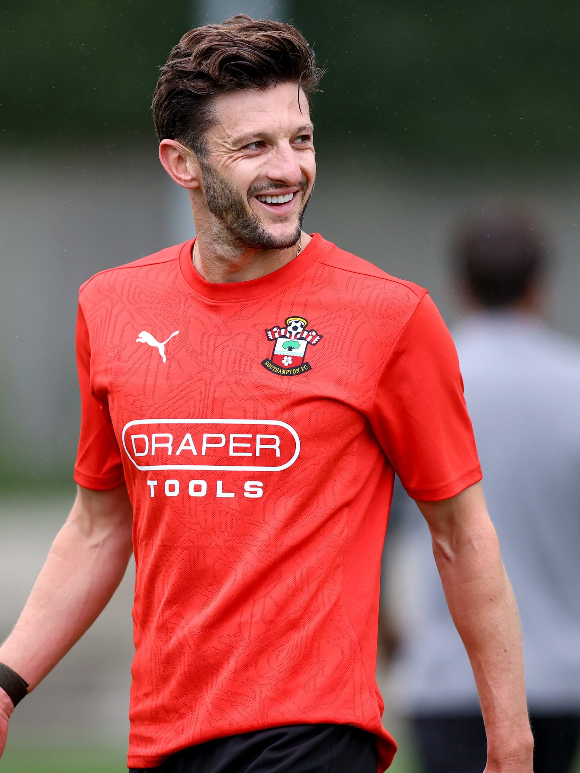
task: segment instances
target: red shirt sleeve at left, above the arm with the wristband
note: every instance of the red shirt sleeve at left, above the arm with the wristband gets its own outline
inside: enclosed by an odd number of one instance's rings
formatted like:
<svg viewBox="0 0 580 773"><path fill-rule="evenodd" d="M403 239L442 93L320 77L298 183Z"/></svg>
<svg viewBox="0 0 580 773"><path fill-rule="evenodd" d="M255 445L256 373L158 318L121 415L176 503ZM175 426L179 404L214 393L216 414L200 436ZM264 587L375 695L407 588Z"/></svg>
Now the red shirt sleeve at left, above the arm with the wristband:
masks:
<svg viewBox="0 0 580 773"><path fill-rule="evenodd" d="M121 453L106 402L90 387L90 342L79 306L77 316L77 369L80 386L80 438L74 479L85 489L105 491L125 482Z"/></svg>

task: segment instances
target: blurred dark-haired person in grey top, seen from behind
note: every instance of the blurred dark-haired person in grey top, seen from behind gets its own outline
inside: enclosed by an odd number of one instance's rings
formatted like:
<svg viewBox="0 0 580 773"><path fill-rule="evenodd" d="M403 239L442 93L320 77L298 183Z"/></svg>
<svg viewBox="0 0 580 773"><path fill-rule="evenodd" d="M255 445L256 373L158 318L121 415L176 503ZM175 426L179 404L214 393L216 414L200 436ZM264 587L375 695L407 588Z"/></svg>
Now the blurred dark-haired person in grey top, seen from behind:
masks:
<svg viewBox="0 0 580 773"><path fill-rule="evenodd" d="M454 261L469 314L454 338L522 621L534 771L566 773L580 737L580 348L541 321L547 263L526 218L469 223ZM408 526L414 509L401 511ZM401 698L426 773L475 773L486 737L469 660L435 584L427 535L417 524L406 539L418 558L419 605L399 662Z"/></svg>

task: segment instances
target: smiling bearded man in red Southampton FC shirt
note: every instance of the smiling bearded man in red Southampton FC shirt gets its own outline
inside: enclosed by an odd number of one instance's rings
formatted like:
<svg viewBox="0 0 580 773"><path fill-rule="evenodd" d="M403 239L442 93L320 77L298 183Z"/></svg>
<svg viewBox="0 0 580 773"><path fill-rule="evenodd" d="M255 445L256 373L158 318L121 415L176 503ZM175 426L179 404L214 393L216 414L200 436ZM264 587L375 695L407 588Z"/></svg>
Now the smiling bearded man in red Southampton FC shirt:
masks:
<svg viewBox="0 0 580 773"><path fill-rule="evenodd" d="M473 660L487 771L530 773L517 611L449 333L426 291L302 233L320 75L299 30L245 16L172 49L153 112L197 239L81 288L79 493L0 649L2 684L18 700L16 679L39 683L132 543L130 768L383 770L396 469Z"/></svg>

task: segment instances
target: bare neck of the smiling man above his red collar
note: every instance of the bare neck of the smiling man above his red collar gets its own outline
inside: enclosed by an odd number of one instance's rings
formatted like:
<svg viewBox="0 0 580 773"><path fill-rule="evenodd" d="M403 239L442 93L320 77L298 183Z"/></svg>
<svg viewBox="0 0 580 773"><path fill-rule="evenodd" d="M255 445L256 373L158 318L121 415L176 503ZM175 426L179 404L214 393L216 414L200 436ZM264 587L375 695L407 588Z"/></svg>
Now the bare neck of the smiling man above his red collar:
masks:
<svg viewBox="0 0 580 773"><path fill-rule="evenodd" d="M208 282L244 282L277 271L293 261L309 243L308 233L283 250L236 248L218 243L211 234L199 234L193 247L193 267Z"/></svg>

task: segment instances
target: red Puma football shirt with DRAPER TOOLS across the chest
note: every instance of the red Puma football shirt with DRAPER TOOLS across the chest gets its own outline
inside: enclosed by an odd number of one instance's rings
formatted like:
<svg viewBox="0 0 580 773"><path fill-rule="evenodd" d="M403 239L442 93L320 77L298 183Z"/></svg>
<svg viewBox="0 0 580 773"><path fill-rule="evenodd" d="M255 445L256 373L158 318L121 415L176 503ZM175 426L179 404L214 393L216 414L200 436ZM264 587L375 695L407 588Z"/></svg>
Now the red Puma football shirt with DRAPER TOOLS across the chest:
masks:
<svg viewBox="0 0 580 773"><path fill-rule="evenodd" d="M128 765L285 724L395 744L375 682L394 472L481 478L455 347L426 291L312 237L211 284L193 241L80 291L75 480L135 512Z"/></svg>

